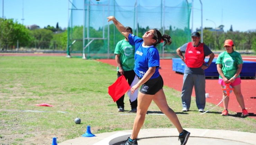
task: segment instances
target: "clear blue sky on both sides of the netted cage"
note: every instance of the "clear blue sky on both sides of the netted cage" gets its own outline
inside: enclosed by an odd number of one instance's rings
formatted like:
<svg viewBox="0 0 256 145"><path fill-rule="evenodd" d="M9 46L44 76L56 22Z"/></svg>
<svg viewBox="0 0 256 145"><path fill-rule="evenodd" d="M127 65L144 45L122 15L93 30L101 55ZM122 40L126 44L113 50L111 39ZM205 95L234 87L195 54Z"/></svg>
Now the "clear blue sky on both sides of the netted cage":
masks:
<svg viewBox="0 0 256 145"><path fill-rule="evenodd" d="M2 12L3 1L4 12ZM0 0L0 17L4 15L5 18L12 18L22 23L22 1L24 1L24 25L36 24L40 28L47 25L55 27L58 22L60 27L67 27L68 0ZM188 1L192 2L192 0ZM201 26L201 4L200 0L193 1L193 30L195 30ZM231 25L234 31L256 30L256 0L201 1L203 4L203 28L214 28L215 23L217 27L224 25L225 31L229 30ZM192 28L192 16L190 28Z"/></svg>

